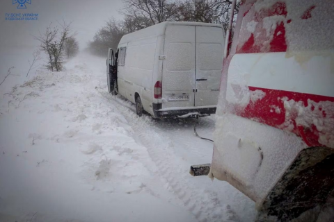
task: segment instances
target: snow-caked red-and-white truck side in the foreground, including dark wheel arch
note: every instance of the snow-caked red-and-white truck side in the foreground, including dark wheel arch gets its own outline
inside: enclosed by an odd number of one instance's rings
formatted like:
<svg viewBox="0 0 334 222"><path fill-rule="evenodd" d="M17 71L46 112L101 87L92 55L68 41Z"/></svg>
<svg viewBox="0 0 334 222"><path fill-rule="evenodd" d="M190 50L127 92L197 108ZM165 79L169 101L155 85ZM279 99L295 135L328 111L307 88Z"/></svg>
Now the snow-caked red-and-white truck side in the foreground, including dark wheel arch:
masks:
<svg viewBox="0 0 334 222"><path fill-rule="evenodd" d="M282 221L333 192L333 17L332 0L244 0L225 51L209 176Z"/></svg>

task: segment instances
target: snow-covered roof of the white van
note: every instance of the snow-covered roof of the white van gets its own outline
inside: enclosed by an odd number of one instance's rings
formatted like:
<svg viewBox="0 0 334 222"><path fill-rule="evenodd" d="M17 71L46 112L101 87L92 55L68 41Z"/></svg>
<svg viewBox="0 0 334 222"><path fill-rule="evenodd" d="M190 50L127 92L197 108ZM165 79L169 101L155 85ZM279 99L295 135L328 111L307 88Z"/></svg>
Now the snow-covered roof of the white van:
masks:
<svg viewBox="0 0 334 222"><path fill-rule="evenodd" d="M161 22L159 24L156 24L154 26L150 26L148 28L143 28L139 31L135 31L134 33L129 33L127 35L124 35L122 39L120 40L119 44L123 44L126 42L131 42L132 40L138 40L145 37L151 37L151 36L159 36L164 35L166 31L166 26L169 25L178 25L178 26L212 26L212 27L220 27L221 24L211 24L211 23L203 23L203 22Z"/></svg>

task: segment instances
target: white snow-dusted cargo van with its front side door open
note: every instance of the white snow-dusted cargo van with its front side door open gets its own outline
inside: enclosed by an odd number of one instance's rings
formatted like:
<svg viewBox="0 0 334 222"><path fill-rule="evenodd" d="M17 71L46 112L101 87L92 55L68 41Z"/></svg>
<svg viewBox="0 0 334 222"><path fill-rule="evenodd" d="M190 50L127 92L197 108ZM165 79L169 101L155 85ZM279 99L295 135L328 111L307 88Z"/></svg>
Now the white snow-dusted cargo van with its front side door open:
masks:
<svg viewBox="0 0 334 222"><path fill-rule="evenodd" d="M154 118L213 114L224 44L220 24L163 22L124 35L116 53L117 76L109 71L114 58L108 52L109 92L136 103L138 115L143 110Z"/></svg>

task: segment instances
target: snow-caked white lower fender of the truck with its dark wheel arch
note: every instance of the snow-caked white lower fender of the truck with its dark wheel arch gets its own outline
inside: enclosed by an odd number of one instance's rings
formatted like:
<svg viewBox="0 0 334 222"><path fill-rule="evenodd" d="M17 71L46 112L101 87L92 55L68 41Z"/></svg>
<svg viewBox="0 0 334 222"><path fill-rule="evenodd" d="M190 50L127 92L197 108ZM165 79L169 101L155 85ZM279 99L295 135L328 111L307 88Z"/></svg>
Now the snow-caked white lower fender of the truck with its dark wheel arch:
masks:
<svg viewBox="0 0 334 222"><path fill-rule="evenodd" d="M308 147L293 133L234 114L217 117L209 176L228 181L263 214L290 221L324 204L333 173L334 148Z"/></svg>

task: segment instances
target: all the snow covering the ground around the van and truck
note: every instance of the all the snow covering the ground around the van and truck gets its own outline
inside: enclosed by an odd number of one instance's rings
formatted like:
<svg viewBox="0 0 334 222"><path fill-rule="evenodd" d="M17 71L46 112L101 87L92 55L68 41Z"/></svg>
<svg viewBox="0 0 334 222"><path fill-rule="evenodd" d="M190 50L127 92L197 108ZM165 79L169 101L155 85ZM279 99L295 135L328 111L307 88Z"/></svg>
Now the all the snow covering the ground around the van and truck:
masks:
<svg viewBox="0 0 334 222"><path fill-rule="evenodd" d="M227 182L190 176L212 158L195 122L136 116L107 92L104 58L81 53L0 92L1 222L255 219ZM200 119L200 136L213 129Z"/></svg>

